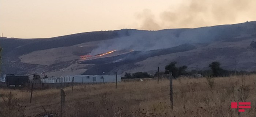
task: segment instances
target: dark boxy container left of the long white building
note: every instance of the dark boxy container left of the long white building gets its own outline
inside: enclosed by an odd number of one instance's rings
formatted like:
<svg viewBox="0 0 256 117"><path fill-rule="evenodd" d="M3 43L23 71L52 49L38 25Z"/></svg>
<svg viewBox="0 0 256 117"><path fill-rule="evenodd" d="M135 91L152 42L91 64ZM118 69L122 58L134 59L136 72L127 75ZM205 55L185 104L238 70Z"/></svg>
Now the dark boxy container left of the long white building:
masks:
<svg viewBox="0 0 256 117"><path fill-rule="evenodd" d="M14 76L14 75L7 75L6 76L6 84L7 86L24 86L25 84L29 83L29 76Z"/></svg>

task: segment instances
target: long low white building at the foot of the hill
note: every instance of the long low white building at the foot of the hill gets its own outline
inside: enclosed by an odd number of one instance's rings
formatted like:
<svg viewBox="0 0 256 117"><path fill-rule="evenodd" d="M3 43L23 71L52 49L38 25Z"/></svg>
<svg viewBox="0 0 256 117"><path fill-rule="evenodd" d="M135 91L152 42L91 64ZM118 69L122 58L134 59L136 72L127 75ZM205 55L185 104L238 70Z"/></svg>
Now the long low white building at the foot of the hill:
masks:
<svg viewBox="0 0 256 117"><path fill-rule="evenodd" d="M74 78L74 83L104 83L104 82L116 82L115 75L69 75L61 77L50 77L41 79L44 83L64 83L72 82ZM117 82L121 82L121 76L117 75Z"/></svg>

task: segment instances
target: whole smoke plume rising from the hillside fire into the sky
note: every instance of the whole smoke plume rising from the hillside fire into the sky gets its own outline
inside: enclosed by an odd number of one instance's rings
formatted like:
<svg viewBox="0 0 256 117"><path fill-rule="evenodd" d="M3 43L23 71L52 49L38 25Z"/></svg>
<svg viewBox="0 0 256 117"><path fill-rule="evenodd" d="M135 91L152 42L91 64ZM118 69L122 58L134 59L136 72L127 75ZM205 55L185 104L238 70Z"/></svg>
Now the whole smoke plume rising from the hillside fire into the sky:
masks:
<svg viewBox="0 0 256 117"><path fill-rule="evenodd" d="M136 18L142 21L139 29L204 28L162 31L124 29L119 31L119 37L99 43L98 48L95 48L91 55L112 50L148 51L187 43L211 43L216 39L230 39L245 35L244 33L251 35L250 31L256 29L256 22L219 27L206 26L256 20L255 5L256 0L190 0L158 15L152 13L150 9L144 9L136 14Z"/></svg>

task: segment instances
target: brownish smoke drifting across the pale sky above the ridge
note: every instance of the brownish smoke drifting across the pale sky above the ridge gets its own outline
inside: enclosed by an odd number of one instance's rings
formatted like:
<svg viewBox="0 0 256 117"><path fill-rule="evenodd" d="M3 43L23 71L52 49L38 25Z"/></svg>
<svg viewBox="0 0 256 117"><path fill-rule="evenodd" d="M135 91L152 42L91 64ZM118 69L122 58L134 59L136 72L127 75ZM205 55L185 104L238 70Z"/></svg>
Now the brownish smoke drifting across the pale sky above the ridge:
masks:
<svg viewBox="0 0 256 117"><path fill-rule="evenodd" d="M135 13L138 29L197 28L256 20L256 0L184 0L159 14Z"/></svg>

